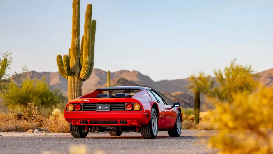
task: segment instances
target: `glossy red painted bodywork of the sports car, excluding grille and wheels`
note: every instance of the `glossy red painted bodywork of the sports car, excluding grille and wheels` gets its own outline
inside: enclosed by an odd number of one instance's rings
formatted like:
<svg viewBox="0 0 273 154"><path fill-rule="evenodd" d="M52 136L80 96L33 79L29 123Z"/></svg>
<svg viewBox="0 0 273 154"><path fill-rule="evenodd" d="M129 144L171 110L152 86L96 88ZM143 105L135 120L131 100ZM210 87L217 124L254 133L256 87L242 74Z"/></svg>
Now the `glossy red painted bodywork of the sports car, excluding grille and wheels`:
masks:
<svg viewBox="0 0 273 154"><path fill-rule="evenodd" d="M159 113L158 129L173 128L176 122L178 108L171 108L171 105L157 103L148 94L147 89L149 88L141 88L142 90L136 93L131 98L96 98L97 94L101 94L102 90L99 89L74 100L71 100L69 103L67 103L67 105L75 103L139 103L142 108L141 111L67 111L66 105L64 118L72 125L141 127L148 124L151 118L151 108L153 105L156 105ZM128 124L79 124L78 122L80 120L127 120ZM135 124L129 124L130 121L134 121Z"/></svg>

